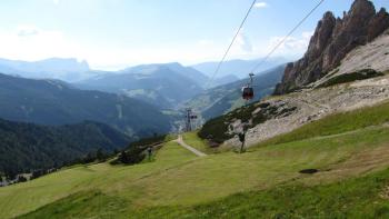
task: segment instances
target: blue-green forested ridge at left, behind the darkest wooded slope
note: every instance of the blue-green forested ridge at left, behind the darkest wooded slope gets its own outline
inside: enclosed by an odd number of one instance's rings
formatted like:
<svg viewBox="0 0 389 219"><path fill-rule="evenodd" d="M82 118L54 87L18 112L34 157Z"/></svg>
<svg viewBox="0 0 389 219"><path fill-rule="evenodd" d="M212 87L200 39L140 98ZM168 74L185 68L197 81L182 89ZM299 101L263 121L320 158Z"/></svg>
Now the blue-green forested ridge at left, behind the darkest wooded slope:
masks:
<svg viewBox="0 0 389 219"><path fill-rule="evenodd" d="M84 120L107 123L132 138L166 133L169 117L156 107L124 96L78 90L57 80L0 74L0 118L39 125Z"/></svg>

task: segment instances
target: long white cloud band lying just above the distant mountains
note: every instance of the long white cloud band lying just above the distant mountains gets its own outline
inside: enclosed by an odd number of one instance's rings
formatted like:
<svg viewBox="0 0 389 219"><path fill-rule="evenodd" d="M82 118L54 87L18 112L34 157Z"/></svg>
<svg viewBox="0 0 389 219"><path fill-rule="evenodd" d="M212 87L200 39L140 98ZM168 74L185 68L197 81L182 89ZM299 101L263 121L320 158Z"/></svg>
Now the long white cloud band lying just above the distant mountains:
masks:
<svg viewBox="0 0 389 219"><path fill-rule="evenodd" d="M300 56L312 32L288 38L275 56ZM228 59L251 59L267 54L282 37L268 40L253 39L243 30L231 48ZM110 44L79 41L61 30L40 29L23 24L13 30L0 30L0 57L36 61L51 57L87 60L96 69L119 69L129 64L179 61L191 64L221 59L231 39L203 39L193 43L177 44L176 41L153 46Z"/></svg>

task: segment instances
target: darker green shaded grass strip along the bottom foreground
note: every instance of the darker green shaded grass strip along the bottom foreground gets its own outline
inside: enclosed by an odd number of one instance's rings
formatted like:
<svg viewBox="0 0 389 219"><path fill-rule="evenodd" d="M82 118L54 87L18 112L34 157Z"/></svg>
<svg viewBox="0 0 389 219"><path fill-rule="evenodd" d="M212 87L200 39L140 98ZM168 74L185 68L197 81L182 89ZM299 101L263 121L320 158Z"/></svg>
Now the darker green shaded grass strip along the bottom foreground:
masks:
<svg viewBox="0 0 389 219"><path fill-rule="evenodd" d="M282 185L240 192L192 207L126 209L123 200L99 191L71 196L22 218L388 218L389 170L341 182L307 187ZM120 213L120 216L118 216Z"/></svg>

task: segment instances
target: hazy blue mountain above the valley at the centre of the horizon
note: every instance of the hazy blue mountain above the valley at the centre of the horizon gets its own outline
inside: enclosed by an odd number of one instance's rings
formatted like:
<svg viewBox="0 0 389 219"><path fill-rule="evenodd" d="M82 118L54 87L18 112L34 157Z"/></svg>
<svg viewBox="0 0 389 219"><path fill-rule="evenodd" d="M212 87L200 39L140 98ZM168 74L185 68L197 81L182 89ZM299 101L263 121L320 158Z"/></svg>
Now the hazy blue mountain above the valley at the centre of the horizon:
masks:
<svg viewBox="0 0 389 219"><path fill-rule="evenodd" d="M179 63L143 64L109 72L78 83L78 88L121 93L160 108L174 108L200 93L208 77Z"/></svg>

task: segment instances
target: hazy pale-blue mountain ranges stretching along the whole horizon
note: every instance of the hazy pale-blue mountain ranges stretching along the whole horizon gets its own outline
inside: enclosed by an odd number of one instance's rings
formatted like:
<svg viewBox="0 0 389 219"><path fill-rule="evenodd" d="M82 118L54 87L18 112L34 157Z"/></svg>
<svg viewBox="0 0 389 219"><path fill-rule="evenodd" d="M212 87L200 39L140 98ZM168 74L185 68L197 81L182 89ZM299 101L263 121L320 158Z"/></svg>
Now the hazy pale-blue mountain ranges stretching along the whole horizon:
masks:
<svg viewBox="0 0 389 219"><path fill-rule="evenodd" d="M260 69L285 63L283 58L272 58ZM211 80L217 62L183 67L180 63L154 63L127 68L119 71L91 70L86 61L52 58L42 61L13 61L0 59L0 72L29 79L47 80L64 87L82 90L123 94L159 109L177 109L178 106L203 92L206 89L232 83L246 78L259 60L226 61Z"/></svg>

